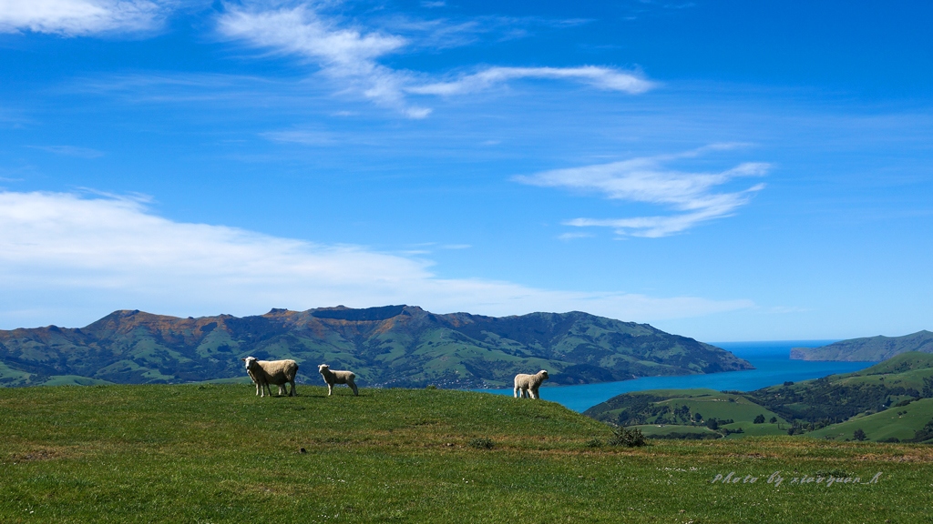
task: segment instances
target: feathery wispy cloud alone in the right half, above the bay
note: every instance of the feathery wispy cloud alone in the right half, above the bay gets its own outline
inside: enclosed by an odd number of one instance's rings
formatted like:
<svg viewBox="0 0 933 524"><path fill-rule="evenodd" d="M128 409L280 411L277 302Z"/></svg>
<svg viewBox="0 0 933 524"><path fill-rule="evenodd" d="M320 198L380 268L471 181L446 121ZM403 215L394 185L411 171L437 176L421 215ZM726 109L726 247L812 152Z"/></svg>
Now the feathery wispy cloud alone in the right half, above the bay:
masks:
<svg viewBox="0 0 933 524"><path fill-rule="evenodd" d="M620 235L664 237L729 216L745 205L752 194L764 188L764 184L757 184L740 191L714 191L715 187L735 178L766 174L771 165L763 162L745 162L722 172L685 172L666 167L677 159L692 159L708 151L737 146L710 145L675 155L539 172L531 176L516 176L514 180L531 186L595 191L612 200L666 206L679 213L632 218L575 218L564 222L567 226L579 228L614 228Z"/></svg>

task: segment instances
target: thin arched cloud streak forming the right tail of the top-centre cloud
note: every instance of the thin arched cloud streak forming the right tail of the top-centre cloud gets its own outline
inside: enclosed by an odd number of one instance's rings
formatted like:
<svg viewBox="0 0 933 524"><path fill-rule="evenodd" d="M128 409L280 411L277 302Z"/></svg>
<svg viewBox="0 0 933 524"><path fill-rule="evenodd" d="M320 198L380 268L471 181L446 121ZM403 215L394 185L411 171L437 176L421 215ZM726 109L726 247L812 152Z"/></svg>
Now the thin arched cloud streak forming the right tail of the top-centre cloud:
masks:
<svg viewBox="0 0 933 524"><path fill-rule="evenodd" d="M454 95L488 90L496 84L520 78L576 80L602 90L617 90L630 94L643 93L654 83L632 73L607 67L490 67L474 75L462 76L453 82L439 82L407 88L418 94Z"/></svg>

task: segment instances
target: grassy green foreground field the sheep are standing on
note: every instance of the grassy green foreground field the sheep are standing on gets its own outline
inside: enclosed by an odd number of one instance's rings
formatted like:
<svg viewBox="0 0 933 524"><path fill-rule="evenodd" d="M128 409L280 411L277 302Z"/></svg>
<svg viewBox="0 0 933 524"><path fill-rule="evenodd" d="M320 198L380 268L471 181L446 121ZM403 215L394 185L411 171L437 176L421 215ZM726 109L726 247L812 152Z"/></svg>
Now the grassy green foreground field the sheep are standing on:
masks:
<svg viewBox="0 0 933 524"><path fill-rule="evenodd" d="M0 389L0 522L911 523L933 504L922 445L612 447L612 428L545 401L326 391Z"/></svg>

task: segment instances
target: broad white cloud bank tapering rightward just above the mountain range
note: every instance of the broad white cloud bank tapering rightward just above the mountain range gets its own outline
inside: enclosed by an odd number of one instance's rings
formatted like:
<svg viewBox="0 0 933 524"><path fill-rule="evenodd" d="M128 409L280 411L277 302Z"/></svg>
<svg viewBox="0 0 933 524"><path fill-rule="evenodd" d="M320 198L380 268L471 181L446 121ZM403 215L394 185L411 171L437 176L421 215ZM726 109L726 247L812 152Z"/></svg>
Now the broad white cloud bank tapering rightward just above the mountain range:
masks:
<svg viewBox="0 0 933 524"><path fill-rule="evenodd" d="M748 300L538 289L443 279L424 259L238 228L179 223L141 200L0 192L5 328L90 323L109 310L181 316L271 307L408 303L490 315L585 310L638 322L752 307ZM72 325L75 325L72 324Z"/></svg>

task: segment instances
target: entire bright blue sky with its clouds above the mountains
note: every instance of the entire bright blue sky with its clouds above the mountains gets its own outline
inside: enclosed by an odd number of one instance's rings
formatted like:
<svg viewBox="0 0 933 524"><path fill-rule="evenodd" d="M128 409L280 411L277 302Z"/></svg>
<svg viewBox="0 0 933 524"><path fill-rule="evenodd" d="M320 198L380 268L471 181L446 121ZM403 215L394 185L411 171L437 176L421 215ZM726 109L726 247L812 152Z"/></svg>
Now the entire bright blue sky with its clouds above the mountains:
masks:
<svg viewBox="0 0 933 524"><path fill-rule="evenodd" d="M0 328L933 329L922 2L0 0Z"/></svg>

